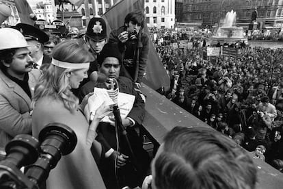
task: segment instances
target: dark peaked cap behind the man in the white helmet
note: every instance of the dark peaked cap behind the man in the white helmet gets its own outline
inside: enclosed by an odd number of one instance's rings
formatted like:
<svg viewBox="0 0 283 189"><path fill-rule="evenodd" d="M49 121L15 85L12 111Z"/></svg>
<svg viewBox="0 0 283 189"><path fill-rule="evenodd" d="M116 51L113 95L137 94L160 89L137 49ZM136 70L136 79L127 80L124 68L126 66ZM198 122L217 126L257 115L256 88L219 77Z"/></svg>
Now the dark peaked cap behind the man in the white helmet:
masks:
<svg viewBox="0 0 283 189"><path fill-rule="evenodd" d="M49 36L45 34L44 31L41 31L40 29L32 25L18 23L14 28L18 29L18 31L21 31L23 36L25 36L25 40L37 40L42 44L49 41Z"/></svg>

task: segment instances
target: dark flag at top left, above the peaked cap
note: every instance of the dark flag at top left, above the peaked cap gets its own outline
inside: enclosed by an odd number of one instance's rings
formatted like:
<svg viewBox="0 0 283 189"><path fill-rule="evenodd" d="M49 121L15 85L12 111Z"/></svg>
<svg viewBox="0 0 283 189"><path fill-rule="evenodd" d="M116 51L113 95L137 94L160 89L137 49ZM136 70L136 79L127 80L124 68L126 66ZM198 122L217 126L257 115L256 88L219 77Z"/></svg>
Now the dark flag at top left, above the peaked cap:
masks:
<svg viewBox="0 0 283 189"><path fill-rule="evenodd" d="M18 16L21 18L21 23L34 25L34 21L29 17L29 14L33 14L27 0L15 0L16 9L18 10Z"/></svg>

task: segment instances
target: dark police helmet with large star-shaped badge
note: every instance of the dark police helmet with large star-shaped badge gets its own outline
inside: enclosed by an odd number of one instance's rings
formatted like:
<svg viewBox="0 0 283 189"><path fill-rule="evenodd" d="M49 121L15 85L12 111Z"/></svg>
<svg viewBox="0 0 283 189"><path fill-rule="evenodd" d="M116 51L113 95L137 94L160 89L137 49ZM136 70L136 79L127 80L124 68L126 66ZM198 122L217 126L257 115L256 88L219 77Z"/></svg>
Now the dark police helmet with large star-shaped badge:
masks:
<svg viewBox="0 0 283 189"><path fill-rule="evenodd" d="M85 36L92 40L103 40L107 38L106 23L101 17L93 17L87 25Z"/></svg>

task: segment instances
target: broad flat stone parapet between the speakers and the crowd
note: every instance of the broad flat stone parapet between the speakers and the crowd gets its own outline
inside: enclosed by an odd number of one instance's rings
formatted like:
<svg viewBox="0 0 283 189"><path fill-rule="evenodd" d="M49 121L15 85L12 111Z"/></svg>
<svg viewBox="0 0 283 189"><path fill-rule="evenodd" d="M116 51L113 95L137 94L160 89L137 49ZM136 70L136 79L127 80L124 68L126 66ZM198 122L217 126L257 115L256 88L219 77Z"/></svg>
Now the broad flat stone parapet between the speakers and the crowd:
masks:
<svg viewBox="0 0 283 189"><path fill-rule="evenodd" d="M141 90L147 97L146 116L142 123L142 131L152 140L154 152L158 149L167 131L170 131L176 125L208 127L204 122L148 86L143 84ZM269 164L262 162L262 160L254 159L254 163L258 169L257 189L278 189L283 187L282 173Z"/></svg>

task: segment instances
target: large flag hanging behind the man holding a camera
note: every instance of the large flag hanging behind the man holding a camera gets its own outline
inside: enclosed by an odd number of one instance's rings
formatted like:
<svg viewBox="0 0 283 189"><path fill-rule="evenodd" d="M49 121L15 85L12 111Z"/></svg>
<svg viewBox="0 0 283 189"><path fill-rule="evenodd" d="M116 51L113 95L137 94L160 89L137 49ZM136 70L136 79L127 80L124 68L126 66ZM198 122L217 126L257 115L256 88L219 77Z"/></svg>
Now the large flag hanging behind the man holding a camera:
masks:
<svg viewBox="0 0 283 189"><path fill-rule="evenodd" d="M144 10L144 0L122 0L105 12L102 17L107 24L107 35L109 36L112 29L124 25L126 14L133 12L134 10ZM149 34L146 24L144 26L144 32ZM170 77L167 75L151 40L146 75L143 82L154 90L161 87L164 87L165 90L169 90L170 88Z"/></svg>

